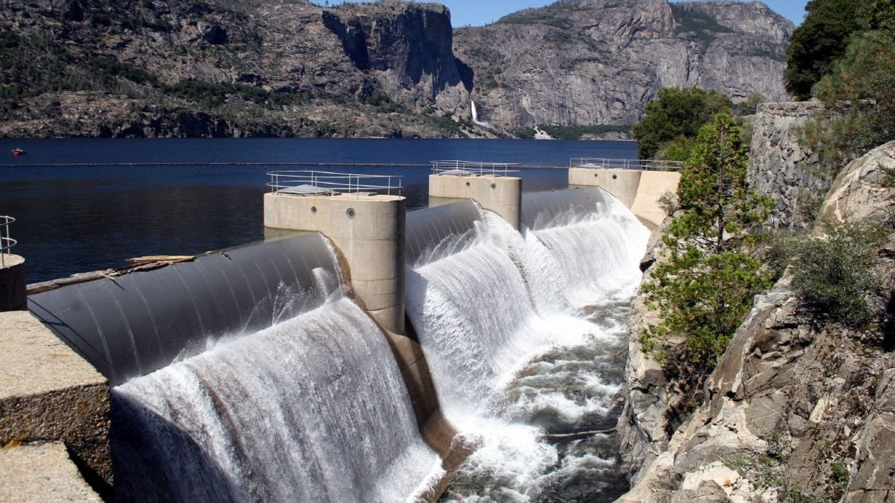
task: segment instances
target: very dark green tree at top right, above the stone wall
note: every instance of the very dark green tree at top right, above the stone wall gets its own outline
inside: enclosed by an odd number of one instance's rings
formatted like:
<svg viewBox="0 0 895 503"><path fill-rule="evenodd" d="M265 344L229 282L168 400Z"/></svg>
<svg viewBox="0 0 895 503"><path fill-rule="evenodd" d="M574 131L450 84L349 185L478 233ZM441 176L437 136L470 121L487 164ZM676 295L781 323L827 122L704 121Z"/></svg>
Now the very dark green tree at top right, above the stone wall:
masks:
<svg viewBox="0 0 895 503"><path fill-rule="evenodd" d="M867 27L872 0L811 0L805 21L792 33L787 47L786 89L797 99L811 98L814 84L845 53L848 40Z"/></svg>

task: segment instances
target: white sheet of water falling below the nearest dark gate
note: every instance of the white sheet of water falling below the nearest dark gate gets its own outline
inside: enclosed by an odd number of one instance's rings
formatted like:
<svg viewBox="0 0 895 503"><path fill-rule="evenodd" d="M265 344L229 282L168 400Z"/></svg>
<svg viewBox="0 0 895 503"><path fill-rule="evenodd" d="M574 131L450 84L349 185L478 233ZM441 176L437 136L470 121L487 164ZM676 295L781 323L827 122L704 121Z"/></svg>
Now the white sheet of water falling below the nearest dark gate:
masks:
<svg viewBox="0 0 895 503"><path fill-rule="evenodd" d="M113 398L134 501L401 501L439 465L385 337L344 298Z"/></svg>

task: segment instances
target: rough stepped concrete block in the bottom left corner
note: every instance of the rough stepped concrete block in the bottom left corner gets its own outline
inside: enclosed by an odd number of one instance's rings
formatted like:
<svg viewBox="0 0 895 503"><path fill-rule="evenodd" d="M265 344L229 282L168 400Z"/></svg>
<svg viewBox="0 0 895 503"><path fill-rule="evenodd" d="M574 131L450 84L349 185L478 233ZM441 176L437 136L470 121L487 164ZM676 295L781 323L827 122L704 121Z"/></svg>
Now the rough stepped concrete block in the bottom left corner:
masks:
<svg viewBox="0 0 895 503"><path fill-rule="evenodd" d="M95 489L110 490L106 378L28 311L0 312L0 347L0 446L61 443L68 451L64 457L71 456L81 472L60 465L63 460L58 452L37 453L34 465L19 465L20 473L3 470L0 485L9 481L42 484L46 479L37 476L36 470L52 465L47 476L69 478L65 483L72 487L83 485L82 475ZM24 451L4 455L5 461L20 455L30 459Z"/></svg>

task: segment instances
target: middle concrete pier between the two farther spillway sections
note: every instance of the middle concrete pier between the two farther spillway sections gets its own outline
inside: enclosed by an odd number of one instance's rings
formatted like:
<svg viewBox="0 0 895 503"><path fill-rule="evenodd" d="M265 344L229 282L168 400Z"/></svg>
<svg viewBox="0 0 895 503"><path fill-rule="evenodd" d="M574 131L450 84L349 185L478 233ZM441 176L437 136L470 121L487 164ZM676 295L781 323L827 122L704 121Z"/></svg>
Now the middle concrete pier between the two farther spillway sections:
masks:
<svg viewBox="0 0 895 503"><path fill-rule="evenodd" d="M429 175L430 205L439 201L472 199L518 229L522 207L522 178L516 176Z"/></svg>

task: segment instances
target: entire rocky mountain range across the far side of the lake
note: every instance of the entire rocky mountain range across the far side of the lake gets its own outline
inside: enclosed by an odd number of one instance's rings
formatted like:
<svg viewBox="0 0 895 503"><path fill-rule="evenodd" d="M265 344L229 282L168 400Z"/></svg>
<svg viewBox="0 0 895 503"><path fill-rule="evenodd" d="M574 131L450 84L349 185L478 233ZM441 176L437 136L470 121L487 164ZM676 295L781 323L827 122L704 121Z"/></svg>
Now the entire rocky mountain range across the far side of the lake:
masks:
<svg viewBox="0 0 895 503"><path fill-rule="evenodd" d="M662 86L781 98L763 4L574 0L452 30L386 0L6 0L0 136L495 136L631 124ZM469 101L479 105L473 124ZM502 131L502 132L501 132Z"/></svg>

